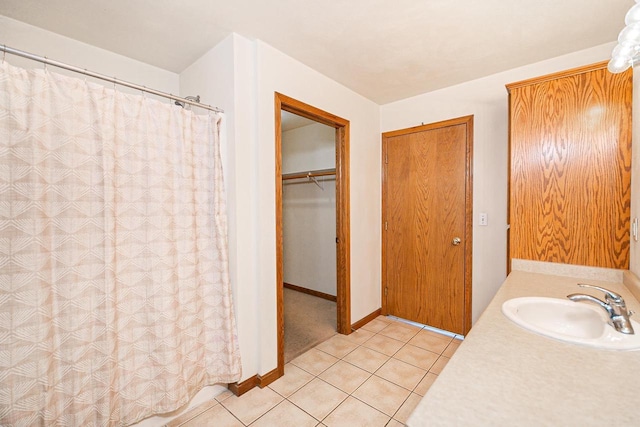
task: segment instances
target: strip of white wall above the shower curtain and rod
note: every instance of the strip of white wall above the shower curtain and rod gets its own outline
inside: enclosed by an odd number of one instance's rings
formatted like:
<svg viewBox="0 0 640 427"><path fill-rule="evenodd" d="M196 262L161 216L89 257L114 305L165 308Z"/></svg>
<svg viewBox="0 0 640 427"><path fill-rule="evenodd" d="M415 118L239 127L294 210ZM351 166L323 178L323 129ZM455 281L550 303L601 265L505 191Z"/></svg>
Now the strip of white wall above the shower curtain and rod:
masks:
<svg viewBox="0 0 640 427"><path fill-rule="evenodd" d="M0 40L2 44L8 47L46 56L49 59L65 62L107 76L117 77L120 80L125 80L130 83L136 83L175 94L177 94L179 90L179 78L176 73L86 43L81 43L77 40L2 15L0 15ZM2 53L0 53L0 55L2 55ZM23 68L44 67L40 62L10 54L6 55L6 61L12 65ZM61 68L49 66L48 69L59 74L85 78L83 75ZM111 83L102 80L95 80L91 77L86 78L96 83L112 86ZM117 90L122 92L137 92L123 86L117 86ZM170 102L169 100L164 100Z"/></svg>

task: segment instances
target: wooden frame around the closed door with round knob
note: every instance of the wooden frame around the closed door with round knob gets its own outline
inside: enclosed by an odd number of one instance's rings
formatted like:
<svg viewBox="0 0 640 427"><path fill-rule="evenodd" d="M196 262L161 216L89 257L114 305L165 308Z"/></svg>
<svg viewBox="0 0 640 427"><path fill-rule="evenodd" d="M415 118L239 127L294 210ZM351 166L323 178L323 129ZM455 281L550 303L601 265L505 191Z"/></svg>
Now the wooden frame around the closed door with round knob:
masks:
<svg viewBox="0 0 640 427"><path fill-rule="evenodd" d="M471 295L472 295L472 266L473 266L473 115L458 117L451 120L415 126L407 129L384 132L382 134L382 314L387 314L387 299L385 288L387 287L387 138L424 132L449 126L464 124L467 126L466 150L465 150L465 229L464 229L464 319L463 329L466 335L471 329Z"/></svg>

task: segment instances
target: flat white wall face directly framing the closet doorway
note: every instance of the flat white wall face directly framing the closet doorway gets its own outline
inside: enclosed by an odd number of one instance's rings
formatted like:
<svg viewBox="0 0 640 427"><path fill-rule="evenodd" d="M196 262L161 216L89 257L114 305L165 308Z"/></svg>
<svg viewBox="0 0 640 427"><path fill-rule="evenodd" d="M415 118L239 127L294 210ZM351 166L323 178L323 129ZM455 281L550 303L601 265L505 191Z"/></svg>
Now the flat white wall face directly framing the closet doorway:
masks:
<svg viewBox="0 0 640 427"><path fill-rule="evenodd" d="M274 92L350 121L352 322L380 307L380 108L260 41L256 60L260 373L266 373L277 365Z"/></svg>

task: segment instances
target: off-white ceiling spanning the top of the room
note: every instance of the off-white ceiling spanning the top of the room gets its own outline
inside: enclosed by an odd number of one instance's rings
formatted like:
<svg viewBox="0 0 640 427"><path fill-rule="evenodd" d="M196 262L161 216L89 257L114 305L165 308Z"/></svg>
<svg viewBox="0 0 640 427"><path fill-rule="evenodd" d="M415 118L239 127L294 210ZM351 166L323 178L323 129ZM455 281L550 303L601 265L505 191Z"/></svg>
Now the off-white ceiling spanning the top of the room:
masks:
<svg viewBox="0 0 640 427"><path fill-rule="evenodd" d="M615 41L633 4L0 0L0 14L176 73L236 32L385 104Z"/></svg>

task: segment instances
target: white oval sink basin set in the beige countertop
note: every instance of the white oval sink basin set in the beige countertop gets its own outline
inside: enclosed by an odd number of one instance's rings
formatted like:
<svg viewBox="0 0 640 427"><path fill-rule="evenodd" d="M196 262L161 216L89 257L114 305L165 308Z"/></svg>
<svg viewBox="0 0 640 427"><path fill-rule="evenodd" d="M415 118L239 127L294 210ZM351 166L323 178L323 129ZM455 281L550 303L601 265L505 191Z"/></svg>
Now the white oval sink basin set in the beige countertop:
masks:
<svg viewBox="0 0 640 427"><path fill-rule="evenodd" d="M623 334L608 323L607 313L596 305L559 298L513 298L502 313L517 325L557 340L611 350L640 349L640 334ZM640 324L632 320L634 329Z"/></svg>

